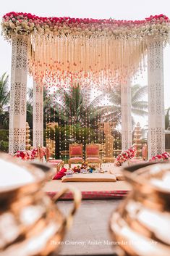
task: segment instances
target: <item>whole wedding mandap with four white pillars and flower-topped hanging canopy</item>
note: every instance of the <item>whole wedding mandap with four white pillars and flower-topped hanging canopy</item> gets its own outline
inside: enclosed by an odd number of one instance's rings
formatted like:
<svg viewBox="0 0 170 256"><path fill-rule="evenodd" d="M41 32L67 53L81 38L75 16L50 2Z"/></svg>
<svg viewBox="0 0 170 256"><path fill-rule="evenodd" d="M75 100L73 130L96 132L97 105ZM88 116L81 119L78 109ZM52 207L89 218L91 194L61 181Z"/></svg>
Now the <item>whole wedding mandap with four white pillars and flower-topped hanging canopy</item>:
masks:
<svg viewBox="0 0 170 256"><path fill-rule="evenodd" d="M44 86L50 91L57 90L58 94L63 89L67 91L68 86L70 91L80 86L84 91L90 87L97 91L105 88L108 94L119 88L122 151L129 149L132 146L131 81L146 67L148 158L164 152L163 47L169 41L168 17L155 15L135 21L95 20L9 12L4 15L1 26L4 38L12 44L9 154L25 150L27 74L33 77L34 147L42 147L44 143ZM54 107L56 105L58 103L54 102ZM72 125L72 112L70 109L69 125ZM48 124L50 118L48 122L48 113L45 114ZM67 113L63 115L66 119ZM88 111L86 115L86 124L90 125ZM64 133L66 135L67 131ZM61 132L59 136L61 147ZM85 143L84 135L80 134L80 137Z"/></svg>

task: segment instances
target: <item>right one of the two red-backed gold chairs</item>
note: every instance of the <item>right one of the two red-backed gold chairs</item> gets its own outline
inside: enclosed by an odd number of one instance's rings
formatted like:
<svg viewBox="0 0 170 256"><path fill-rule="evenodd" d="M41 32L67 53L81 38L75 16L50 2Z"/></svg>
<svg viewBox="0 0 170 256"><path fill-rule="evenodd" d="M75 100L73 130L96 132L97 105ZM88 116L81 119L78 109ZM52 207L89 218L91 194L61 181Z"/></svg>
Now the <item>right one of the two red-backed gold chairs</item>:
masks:
<svg viewBox="0 0 170 256"><path fill-rule="evenodd" d="M98 144L87 144L85 146L85 155L88 163L97 163L101 167L102 160L99 156L100 146Z"/></svg>

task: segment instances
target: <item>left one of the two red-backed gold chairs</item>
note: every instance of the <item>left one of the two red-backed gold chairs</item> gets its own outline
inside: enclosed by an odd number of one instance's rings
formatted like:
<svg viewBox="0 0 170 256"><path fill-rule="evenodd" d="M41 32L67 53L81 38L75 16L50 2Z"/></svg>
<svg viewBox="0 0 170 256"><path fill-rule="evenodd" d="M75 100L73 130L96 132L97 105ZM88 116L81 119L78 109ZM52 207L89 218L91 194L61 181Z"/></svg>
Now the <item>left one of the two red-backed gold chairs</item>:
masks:
<svg viewBox="0 0 170 256"><path fill-rule="evenodd" d="M82 161L82 144L69 144L69 168L72 164L78 164Z"/></svg>

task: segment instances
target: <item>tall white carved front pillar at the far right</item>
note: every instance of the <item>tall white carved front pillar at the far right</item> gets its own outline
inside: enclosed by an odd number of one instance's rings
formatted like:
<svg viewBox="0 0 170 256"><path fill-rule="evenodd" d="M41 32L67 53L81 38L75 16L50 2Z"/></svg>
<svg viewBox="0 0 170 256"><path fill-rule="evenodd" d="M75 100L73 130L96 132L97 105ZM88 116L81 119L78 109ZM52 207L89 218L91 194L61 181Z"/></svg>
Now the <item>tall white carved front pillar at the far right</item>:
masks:
<svg viewBox="0 0 170 256"><path fill-rule="evenodd" d="M165 150L163 43L148 40L148 157Z"/></svg>

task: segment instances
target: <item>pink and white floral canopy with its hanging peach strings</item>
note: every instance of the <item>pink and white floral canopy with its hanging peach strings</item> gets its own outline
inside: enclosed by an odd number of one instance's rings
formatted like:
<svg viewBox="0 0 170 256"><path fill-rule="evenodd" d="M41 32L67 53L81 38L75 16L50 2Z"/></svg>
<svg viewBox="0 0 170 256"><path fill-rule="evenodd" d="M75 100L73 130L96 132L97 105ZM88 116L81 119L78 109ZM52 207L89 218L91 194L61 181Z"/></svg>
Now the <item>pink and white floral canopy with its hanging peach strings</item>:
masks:
<svg viewBox="0 0 170 256"><path fill-rule="evenodd" d="M125 83L145 68L150 39L166 44L169 18L95 20L38 17L10 12L1 23L7 40L27 36L29 73L39 82L76 86L112 86Z"/></svg>

